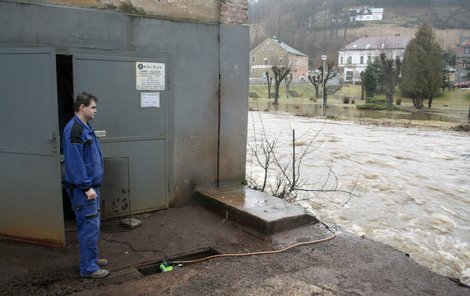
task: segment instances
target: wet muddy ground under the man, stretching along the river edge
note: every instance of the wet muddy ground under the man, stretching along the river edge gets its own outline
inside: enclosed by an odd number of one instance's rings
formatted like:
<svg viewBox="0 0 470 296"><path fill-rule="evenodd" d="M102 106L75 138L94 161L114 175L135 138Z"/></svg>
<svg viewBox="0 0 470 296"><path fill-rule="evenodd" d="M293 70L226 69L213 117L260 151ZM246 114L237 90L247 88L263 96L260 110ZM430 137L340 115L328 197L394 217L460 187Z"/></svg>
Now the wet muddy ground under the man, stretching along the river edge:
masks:
<svg viewBox="0 0 470 296"><path fill-rule="evenodd" d="M73 223L63 250L0 242L0 295L470 295L468 287L406 254L341 229L326 242L278 254L155 273L153 264L165 258L281 249L331 232L318 223L263 237L196 204L138 218L140 228L102 233L101 257L110 260L112 272L103 280L79 277Z"/></svg>

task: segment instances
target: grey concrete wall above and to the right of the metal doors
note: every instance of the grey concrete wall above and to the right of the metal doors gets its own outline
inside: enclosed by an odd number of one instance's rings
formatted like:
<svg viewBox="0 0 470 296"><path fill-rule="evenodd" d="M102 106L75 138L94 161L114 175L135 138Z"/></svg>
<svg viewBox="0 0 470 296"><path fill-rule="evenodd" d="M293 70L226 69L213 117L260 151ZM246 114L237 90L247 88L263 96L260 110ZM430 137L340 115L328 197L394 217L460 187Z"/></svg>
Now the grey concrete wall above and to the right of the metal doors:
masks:
<svg viewBox="0 0 470 296"><path fill-rule="evenodd" d="M55 47L58 52L92 49L110 54L161 52L170 56L174 100L168 130L173 147L170 206L186 203L195 186L217 179L220 69L220 180L244 179L247 27L16 1L0 1L0 27L2 47Z"/></svg>

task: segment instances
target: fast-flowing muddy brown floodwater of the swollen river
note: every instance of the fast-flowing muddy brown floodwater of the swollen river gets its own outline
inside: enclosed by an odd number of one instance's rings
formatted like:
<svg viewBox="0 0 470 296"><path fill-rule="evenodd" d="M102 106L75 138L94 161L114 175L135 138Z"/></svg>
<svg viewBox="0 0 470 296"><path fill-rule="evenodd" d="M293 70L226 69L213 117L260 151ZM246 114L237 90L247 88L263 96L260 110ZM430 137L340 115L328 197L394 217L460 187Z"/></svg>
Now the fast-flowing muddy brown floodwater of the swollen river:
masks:
<svg viewBox="0 0 470 296"><path fill-rule="evenodd" d="M339 190L354 195L300 192L303 206L325 222L391 245L421 265L470 285L468 134L287 113L248 116L247 178L262 184L263 169L250 147L260 143L263 133L276 141L276 155L285 164L291 159L292 129L297 157L317 135L302 160L304 188L330 189L337 183ZM278 175L278 169L270 169L271 184Z"/></svg>

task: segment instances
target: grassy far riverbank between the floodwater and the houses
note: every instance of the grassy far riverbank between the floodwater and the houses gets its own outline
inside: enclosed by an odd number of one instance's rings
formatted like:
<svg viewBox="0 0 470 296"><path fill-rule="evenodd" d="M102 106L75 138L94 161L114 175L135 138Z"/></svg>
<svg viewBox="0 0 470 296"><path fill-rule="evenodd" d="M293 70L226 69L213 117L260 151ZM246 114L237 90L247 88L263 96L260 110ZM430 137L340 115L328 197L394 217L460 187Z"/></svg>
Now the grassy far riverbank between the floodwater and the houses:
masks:
<svg viewBox="0 0 470 296"><path fill-rule="evenodd" d="M365 104L361 100L360 85L343 85L334 94L328 96L328 108L322 110L321 99L315 98L315 90L310 83L291 84L291 95L287 97L286 89L281 86L279 105L274 106L274 99L267 97L266 85L250 85L250 97L248 105L250 111L283 111L293 114L318 117L324 114L333 119L393 119L412 121L416 125L426 122L451 122L457 124L468 124L470 113L470 90L454 89L443 91L433 99L432 108L425 107L416 110L409 98L401 97L400 91L395 90L394 104L396 111L360 110L357 105ZM346 99L347 98L347 99ZM385 99L385 94L378 92L377 99ZM420 123L420 122L423 123ZM433 123L436 125L435 123Z"/></svg>

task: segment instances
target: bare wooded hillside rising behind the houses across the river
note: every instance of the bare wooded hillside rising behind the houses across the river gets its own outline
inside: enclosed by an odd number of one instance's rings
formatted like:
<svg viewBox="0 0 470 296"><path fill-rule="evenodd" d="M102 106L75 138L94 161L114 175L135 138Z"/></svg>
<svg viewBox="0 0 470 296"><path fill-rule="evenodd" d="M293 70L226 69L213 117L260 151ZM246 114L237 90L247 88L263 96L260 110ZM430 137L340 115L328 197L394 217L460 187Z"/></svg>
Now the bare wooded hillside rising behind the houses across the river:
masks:
<svg viewBox="0 0 470 296"><path fill-rule="evenodd" d="M336 56L364 36L413 37L430 23L441 47L452 52L460 37L470 36L469 0L250 0L251 48L269 37L300 50L312 66L322 54ZM352 8L384 8L383 20L350 22Z"/></svg>

